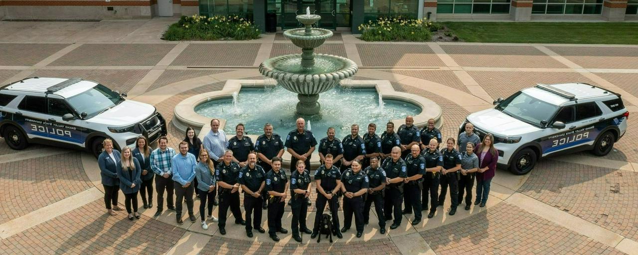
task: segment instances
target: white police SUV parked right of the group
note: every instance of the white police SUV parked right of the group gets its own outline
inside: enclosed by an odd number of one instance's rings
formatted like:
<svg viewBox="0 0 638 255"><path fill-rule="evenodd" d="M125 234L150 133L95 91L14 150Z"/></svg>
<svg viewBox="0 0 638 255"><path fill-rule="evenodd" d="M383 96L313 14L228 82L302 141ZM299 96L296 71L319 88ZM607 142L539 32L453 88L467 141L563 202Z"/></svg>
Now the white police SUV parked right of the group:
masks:
<svg viewBox="0 0 638 255"><path fill-rule="evenodd" d="M537 84L494 101L496 107L470 114L482 138L491 133L498 164L517 175L541 157L592 150L607 155L627 130L629 112L619 94L590 84Z"/></svg>

